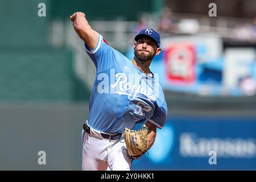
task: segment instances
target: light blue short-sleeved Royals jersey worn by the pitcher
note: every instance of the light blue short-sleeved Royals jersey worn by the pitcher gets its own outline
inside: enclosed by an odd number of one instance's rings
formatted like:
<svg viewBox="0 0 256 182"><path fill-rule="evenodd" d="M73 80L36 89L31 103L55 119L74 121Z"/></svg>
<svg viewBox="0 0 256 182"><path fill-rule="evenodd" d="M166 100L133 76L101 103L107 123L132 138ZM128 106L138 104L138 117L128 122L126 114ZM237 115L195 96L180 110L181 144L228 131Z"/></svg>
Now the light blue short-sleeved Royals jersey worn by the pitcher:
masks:
<svg viewBox="0 0 256 182"><path fill-rule="evenodd" d="M85 45L97 69L88 125L104 133L123 133L124 127L133 129L136 123L146 122L161 129L166 122L167 105L158 76L143 73L98 36L93 50Z"/></svg>

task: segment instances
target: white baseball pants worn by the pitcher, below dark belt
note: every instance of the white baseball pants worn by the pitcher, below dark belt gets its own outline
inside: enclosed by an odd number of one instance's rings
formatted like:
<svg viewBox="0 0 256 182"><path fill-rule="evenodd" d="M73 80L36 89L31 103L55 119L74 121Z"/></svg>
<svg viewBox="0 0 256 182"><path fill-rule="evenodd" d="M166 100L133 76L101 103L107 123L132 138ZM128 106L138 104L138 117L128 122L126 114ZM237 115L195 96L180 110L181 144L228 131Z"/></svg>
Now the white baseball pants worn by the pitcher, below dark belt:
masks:
<svg viewBox="0 0 256 182"><path fill-rule="evenodd" d="M126 153L125 140L110 140L101 137L99 131L82 130L83 171L130 171L131 159Z"/></svg>

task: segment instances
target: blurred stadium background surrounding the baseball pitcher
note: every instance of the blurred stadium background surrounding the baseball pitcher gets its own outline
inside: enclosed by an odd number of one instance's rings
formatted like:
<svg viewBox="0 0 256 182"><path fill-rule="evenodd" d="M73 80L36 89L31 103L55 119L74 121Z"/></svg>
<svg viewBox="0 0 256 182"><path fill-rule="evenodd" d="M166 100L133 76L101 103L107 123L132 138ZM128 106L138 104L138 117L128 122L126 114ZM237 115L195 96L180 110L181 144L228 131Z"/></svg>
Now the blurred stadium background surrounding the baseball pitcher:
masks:
<svg viewBox="0 0 256 182"><path fill-rule="evenodd" d="M212 2L217 17L208 16ZM168 119L132 169L256 169L256 1L0 0L1 170L81 169L95 68L69 22L76 11L129 58L138 30L161 33L151 71Z"/></svg>

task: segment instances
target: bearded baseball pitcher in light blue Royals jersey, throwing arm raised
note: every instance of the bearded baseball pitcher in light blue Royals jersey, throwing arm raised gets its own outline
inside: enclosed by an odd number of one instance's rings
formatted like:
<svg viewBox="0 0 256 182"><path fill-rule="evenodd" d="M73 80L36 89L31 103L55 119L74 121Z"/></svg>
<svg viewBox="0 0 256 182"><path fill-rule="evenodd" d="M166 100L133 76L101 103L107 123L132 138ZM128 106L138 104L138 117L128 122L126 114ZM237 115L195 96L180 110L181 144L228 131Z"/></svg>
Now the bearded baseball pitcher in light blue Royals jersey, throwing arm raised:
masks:
<svg viewBox="0 0 256 182"><path fill-rule="evenodd" d="M149 68L161 52L160 35L152 28L140 31L129 60L89 26L84 13L70 19L97 70L82 130L82 170L130 170L166 122L163 90ZM137 123L142 129L133 130Z"/></svg>

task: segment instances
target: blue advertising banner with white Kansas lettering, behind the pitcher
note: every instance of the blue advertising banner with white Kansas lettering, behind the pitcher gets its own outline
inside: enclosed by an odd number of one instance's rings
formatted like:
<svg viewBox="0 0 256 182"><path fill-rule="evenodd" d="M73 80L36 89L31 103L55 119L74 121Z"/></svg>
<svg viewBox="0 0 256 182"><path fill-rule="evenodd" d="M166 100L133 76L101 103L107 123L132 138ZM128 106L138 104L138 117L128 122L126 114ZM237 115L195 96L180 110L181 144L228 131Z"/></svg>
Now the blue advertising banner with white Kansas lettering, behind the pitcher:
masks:
<svg viewBox="0 0 256 182"><path fill-rule="evenodd" d="M256 170L256 118L170 117L133 170Z"/></svg>

